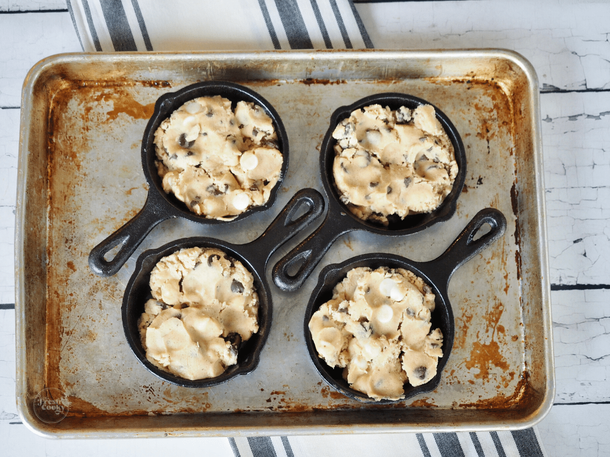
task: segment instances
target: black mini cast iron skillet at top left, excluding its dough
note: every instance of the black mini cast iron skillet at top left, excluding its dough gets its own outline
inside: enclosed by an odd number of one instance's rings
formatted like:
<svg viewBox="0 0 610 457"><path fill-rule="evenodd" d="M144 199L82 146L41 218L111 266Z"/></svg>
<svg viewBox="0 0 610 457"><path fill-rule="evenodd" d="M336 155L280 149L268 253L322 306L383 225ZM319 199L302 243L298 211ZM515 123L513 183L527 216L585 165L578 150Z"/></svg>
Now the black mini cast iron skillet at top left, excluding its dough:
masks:
<svg viewBox="0 0 610 457"><path fill-rule="evenodd" d="M284 163L282 164L278 183L271 190L267 203L259 207L249 208L232 221L206 219L205 216L199 216L188 210L187 206L173 194L166 194L163 191L163 180L159 177L157 166L155 165L154 132L161 122L170 117L171 113L184 105L185 102L197 97L212 97L215 95L229 99L233 109L235 109L235 105L239 101L253 102L262 107L271 118L271 121L273 121L273 126L278 136L279 151L284 156ZM278 113L269 102L253 90L232 82L208 81L188 85L177 92L162 95L155 104L154 113L148 121L142 138L142 169L146 182L149 185L148 197L144 207L131 221L127 222L123 227L112 233L112 235L91 250L89 254L89 267L91 271L98 276L111 276L117 273L152 228L159 224L159 222L165 221L165 219L182 218L203 224L226 224L228 222L240 221L257 211L267 210L275 201L278 188L284 179L287 168L288 135L284 129L284 124L282 124ZM104 258L110 250L121 244L123 246L120 247L117 255L112 260Z"/></svg>

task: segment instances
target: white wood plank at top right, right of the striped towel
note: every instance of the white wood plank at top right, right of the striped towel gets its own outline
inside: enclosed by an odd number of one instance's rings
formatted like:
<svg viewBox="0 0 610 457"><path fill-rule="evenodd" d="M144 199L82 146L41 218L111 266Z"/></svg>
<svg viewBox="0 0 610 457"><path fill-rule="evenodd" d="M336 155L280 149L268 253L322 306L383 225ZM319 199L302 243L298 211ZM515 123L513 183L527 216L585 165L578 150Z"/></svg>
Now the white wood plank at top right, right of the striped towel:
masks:
<svg viewBox="0 0 610 457"><path fill-rule="evenodd" d="M356 4L381 49L508 48L540 87L610 88L610 3L494 0Z"/></svg>

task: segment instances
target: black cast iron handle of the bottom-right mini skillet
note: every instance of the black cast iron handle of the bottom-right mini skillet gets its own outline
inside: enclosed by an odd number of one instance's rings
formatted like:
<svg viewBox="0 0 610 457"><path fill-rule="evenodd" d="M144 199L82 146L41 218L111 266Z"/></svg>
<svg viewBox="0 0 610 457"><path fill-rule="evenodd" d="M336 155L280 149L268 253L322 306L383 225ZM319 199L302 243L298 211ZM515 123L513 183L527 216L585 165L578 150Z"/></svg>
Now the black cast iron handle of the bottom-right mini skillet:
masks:
<svg viewBox="0 0 610 457"><path fill-rule="evenodd" d="M489 232L473 239L484 224L490 225ZM451 276L459 267L504 235L505 231L506 218L504 218L504 214L495 208L485 208L475 214L475 217L468 222L458 238L451 243L451 246L440 257L428 262L428 264L434 264L434 271L437 272L439 278L446 279L445 284L448 285Z"/></svg>

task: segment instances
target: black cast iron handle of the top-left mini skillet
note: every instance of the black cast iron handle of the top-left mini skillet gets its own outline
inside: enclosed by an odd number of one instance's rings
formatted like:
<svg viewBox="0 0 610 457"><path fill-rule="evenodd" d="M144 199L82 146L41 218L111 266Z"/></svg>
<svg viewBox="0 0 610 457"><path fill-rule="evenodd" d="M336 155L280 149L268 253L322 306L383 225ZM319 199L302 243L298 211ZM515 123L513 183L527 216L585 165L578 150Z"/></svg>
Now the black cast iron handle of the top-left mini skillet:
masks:
<svg viewBox="0 0 610 457"><path fill-rule="evenodd" d="M89 268L98 276L107 277L116 274L131 257L134 251L144 241L144 238L152 228L171 217L167 211L158 211L158 207L151 194L146 197L144 207L129 222L108 238L104 239L98 246L91 249L89 253ZM104 256L115 247L121 246L117 255L112 260L106 260Z"/></svg>

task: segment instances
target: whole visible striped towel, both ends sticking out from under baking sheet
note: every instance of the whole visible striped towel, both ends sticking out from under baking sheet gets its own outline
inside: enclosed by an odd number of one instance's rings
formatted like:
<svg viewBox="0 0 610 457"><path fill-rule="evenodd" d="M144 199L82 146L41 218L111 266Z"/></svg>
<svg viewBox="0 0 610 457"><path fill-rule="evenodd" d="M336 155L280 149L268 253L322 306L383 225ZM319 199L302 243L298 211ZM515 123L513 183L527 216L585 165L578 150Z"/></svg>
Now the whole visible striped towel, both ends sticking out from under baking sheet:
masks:
<svg viewBox="0 0 610 457"><path fill-rule="evenodd" d="M68 9L87 52L373 48L350 0L68 0ZM235 457L545 455L536 428L229 438L229 444Z"/></svg>

